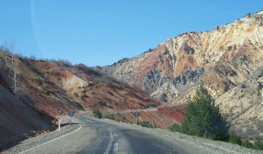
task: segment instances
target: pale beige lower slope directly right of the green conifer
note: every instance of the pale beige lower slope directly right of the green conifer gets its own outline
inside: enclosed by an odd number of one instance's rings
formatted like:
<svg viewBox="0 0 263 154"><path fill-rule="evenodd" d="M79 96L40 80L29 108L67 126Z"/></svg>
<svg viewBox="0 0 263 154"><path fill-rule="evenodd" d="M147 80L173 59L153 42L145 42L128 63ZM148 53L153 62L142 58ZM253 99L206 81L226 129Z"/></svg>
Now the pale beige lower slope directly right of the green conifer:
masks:
<svg viewBox="0 0 263 154"><path fill-rule="evenodd" d="M242 137L263 138L263 59L248 79L216 99L231 122L230 131Z"/></svg>

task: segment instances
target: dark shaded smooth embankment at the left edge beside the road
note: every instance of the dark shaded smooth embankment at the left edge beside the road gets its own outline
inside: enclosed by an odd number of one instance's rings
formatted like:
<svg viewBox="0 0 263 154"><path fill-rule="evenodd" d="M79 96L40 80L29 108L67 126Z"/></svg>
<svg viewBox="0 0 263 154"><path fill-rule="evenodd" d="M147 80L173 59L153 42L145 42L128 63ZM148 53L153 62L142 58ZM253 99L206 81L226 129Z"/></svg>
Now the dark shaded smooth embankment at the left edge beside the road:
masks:
<svg viewBox="0 0 263 154"><path fill-rule="evenodd" d="M46 116L26 106L0 84L0 151L30 136L54 130Z"/></svg>

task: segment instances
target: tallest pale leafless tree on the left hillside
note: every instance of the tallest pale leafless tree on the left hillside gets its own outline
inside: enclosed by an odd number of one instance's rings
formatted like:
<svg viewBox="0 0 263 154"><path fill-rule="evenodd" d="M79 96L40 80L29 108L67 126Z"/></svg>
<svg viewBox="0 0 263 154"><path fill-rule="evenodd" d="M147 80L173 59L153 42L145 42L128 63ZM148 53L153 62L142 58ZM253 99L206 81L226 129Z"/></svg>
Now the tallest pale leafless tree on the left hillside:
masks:
<svg viewBox="0 0 263 154"><path fill-rule="evenodd" d="M15 56L14 56L15 57ZM11 89L13 91L13 94L16 95L19 92L19 83L18 83L18 79L20 78L20 74L19 74L19 61L18 58L15 57L14 61L13 61L13 68L10 69L10 79L11 79Z"/></svg>

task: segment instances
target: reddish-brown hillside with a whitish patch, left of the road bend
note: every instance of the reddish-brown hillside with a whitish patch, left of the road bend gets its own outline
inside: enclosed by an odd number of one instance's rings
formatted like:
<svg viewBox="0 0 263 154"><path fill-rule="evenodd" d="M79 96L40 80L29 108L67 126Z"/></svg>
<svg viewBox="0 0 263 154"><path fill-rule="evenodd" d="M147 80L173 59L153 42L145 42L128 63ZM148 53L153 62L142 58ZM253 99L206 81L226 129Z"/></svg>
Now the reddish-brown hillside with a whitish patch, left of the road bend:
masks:
<svg viewBox="0 0 263 154"><path fill-rule="evenodd" d="M0 52L1 56L1 52ZM18 97L28 106L55 117L69 110L102 111L144 109L162 103L148 95L102 76L79 64L19 58L20 92ZM1 67L2 66L2 67ZM0 83L10 89L9 68L0 64ZM37 83L37 79L42 84ZM81 95L84 97L81 98Z"/></svg>

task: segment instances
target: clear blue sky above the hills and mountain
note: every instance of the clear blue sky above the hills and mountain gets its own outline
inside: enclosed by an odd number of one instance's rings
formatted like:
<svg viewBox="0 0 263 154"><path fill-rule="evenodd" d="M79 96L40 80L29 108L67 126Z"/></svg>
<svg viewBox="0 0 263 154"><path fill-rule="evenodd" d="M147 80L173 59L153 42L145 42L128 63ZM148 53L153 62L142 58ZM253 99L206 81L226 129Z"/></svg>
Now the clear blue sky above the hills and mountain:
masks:
<svg viewBox="0 0 263 154"><path fill-rule="evenodd" d="M109 65L261 9L263 0L0 0L0 44L13 39L24 56Z"/></svg>

